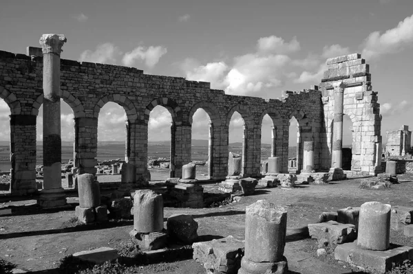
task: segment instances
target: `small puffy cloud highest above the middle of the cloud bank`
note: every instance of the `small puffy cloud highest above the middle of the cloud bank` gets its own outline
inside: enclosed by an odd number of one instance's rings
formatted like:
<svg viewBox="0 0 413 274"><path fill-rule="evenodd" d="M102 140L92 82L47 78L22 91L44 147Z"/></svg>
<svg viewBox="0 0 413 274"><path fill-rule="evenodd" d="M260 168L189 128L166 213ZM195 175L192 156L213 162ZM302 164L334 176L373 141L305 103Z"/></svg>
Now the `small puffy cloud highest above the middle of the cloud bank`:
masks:
<svg viewBox="0 0 413 274"><path fill-rule="evenodd" d="M257 51L273 54L289 54L298 52L300 49L297 37L294 36L289 43L286 43L283 38L275 35L262 37L257 41Z"/></svg>

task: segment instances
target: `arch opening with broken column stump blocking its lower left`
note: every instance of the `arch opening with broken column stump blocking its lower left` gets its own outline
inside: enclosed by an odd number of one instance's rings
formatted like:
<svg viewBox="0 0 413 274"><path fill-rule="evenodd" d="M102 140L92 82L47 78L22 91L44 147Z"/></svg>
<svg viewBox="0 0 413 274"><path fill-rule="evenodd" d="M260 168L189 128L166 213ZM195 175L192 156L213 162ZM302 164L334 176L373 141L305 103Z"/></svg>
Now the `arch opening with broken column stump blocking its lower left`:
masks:
<svg viewBox="0 0 413 274"><path fill-rule="evenodd" d="M242 157L241 172L244 173L245 163L244 119L235 111L229 122L228 150Z"/></svg>

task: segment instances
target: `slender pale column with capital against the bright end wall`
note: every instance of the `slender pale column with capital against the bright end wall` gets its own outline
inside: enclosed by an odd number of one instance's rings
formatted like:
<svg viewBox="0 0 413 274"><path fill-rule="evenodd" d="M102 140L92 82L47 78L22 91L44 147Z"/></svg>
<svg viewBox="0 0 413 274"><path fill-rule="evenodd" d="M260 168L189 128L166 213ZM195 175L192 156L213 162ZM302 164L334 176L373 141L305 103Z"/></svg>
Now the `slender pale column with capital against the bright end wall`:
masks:
<svg viewBox="0 0 413 274"><path fill-rule="evenodd" d="M343 100L344 88L343 82L333 82L334 87L334 125L332 133L332 168L341 168L343 146Z"/></svg>

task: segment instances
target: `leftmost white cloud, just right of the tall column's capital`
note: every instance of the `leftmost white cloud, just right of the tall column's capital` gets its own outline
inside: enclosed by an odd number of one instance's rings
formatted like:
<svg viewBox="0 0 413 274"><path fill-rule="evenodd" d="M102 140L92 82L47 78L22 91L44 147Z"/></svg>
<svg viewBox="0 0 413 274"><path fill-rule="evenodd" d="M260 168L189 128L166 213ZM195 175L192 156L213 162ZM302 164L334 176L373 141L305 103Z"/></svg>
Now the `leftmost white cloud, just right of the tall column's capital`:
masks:
<svg viewBox="0 0 413 274"><path fill-rule="evenodd" d="M80 62L98 62L105 64L116 64L116 58L122 54L119 51L118 47L115 47L112 43L104 43L98 45L96 50L92 52L87 49L85 52L82 52L81 57L79 58Z"/></svg>

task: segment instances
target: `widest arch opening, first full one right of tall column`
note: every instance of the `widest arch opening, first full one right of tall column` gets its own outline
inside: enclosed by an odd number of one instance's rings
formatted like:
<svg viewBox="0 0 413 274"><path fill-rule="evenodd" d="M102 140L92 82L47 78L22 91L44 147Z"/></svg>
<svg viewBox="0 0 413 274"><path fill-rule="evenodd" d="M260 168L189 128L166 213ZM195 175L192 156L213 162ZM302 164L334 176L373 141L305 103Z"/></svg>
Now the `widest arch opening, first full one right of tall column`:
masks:
<svg viewBox="0 0 413 274"><path fill-rule="evenodd" d="M120 181L119 167L125 162L127 142L125 109L115 102L107 102L98 116L97 153L98 175L116 175L110 181Z"/></svg>

